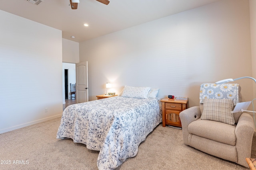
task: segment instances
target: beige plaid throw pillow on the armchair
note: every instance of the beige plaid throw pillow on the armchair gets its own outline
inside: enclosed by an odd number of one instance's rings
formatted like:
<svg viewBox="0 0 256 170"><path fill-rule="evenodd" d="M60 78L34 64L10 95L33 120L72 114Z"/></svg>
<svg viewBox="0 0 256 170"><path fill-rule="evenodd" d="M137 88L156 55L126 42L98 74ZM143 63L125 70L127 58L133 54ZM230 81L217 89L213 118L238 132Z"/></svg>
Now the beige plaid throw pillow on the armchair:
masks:
<svg viewBox="0 0 256 170"><path fill-rule="evenodd" d="M234 125L234 115L230 112L233 106L234 101L232 99L204 99L201 119Z"/></svg>

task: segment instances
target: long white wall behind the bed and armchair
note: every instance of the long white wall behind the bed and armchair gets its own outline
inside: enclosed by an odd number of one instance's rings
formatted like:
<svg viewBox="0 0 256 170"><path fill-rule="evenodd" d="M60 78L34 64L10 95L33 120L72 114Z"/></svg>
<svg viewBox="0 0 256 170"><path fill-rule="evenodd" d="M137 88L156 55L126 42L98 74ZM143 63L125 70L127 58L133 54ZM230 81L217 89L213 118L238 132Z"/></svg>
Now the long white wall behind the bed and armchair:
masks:
<svg viewBox="0 0 256 170"><path fill-rule="evenodd" d="M160 88L158 97L188 96L199 104L200 84L252 76L248 0L222 0L80 43L88 61L89 100L112 82ZM244 100L250 80L236 81Z"/></svg>

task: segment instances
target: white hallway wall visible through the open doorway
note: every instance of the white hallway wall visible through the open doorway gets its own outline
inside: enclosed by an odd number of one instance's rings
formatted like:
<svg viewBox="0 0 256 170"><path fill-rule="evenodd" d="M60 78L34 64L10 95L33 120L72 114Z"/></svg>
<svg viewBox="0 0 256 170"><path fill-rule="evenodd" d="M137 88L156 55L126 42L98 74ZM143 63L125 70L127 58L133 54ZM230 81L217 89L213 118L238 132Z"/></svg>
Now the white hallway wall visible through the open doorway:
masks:
<svg viewBox="0 0 256 170"><path fill-rule="evenodd" d="M65 69L68 70L68 99L70 99L70 83L76 83L76 64L73 63L62 63L62 80L65 80ZM62 102L65 104L65 82L62 84L63 98ZM74 95L73 95L74 96Z"/></svg>

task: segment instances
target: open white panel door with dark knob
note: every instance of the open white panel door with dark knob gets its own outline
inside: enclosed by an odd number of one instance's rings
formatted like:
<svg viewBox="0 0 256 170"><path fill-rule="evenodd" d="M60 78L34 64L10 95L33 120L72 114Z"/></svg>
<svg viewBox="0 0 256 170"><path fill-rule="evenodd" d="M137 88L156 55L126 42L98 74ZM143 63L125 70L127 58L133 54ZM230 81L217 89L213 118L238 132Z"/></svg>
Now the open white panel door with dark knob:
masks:
<svg viewBox="0 0 256 170"><path fill-rule="evenodd" d="M76 103L88 102L88 62L76 64Z"/></svg>

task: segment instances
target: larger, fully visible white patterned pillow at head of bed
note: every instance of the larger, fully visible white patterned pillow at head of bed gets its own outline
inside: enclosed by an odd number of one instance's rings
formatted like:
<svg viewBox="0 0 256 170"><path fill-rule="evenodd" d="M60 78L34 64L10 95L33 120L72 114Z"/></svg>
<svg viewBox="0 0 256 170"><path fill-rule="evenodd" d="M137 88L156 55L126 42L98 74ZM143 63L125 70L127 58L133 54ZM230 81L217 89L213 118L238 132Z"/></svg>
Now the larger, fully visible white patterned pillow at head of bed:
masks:
<svg viewBox="0 0 256 170"><path fill-rule="evenodd" d="M132 87L125 86L122 92L122 97L129 98L148 98L148 92L150 91L150 87Z"/></svg>

